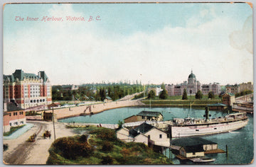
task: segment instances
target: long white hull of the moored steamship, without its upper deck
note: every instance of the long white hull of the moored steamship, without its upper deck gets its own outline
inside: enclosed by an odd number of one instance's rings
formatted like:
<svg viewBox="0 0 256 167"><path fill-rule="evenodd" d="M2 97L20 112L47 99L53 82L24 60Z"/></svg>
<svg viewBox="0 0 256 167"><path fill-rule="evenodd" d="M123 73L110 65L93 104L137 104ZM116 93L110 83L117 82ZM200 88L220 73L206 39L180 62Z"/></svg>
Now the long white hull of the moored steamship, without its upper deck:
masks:
<svg viewBox="0 0 256 167"><path fill-rule="evenodd" d="M183 126L171 126L171 137L191 137L191 136L200 136L207 134L218 134L223 132L230 132L242 127L245 127L249 119L237 120L233 122L218 122L210 123L203 125L183 125Z"/></svg>

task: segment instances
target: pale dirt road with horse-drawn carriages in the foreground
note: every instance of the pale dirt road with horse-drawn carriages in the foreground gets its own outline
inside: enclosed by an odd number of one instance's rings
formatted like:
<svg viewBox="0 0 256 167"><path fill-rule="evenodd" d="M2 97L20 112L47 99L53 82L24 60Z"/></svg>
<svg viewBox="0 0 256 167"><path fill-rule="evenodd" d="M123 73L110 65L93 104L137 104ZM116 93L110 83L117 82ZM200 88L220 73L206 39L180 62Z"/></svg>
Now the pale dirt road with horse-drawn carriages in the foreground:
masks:
<svg viewBox="0 0 256 167"><path fill-rule="evenodd" d="M4 139L4 144L9 145L9 149L4 151L3 159L6 164L46 164L49 153L48 149L54 142L53 122L29 122L34 126L22 134L17 139ZM43 139L43 132L50 130L51 139ZM36 133L36 142L26 142L26 140ZM56 139L59 137L73 136L72 129L65 129L63 123L55 123Z"/></svg>

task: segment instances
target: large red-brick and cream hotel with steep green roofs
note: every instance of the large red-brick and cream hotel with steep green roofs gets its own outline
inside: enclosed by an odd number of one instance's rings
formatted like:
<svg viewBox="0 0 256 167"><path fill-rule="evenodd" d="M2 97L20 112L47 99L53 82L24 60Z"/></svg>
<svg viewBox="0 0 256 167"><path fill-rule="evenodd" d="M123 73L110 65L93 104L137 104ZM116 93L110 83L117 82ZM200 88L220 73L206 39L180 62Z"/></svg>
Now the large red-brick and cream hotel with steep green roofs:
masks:
<svg viewBox="0 0 256 167"><path fill-rule="evenodd" d="M3 86L4 103L13 102L23 109L52 103L50 80L45 71L36 75L16 69L11 75L4 75Z"/></svg>

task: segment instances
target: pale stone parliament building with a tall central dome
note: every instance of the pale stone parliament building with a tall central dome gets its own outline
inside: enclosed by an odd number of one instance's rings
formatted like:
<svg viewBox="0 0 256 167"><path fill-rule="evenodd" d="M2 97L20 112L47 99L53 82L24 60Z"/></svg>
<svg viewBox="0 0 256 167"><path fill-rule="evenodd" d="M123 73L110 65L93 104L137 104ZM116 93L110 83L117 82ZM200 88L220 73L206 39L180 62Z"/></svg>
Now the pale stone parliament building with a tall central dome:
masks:
<svg viewBox="0 0 256 167"><path fill-rule="evenodd" d="M195 95L197 91L201 90L203 95L207 95L210 91L213 91L215 95L220 94L220 84L203 84L196 80L196 75L191 74L188 76L188 81L183 81L182 84L168 84L165 85L168 96L182 96L184 88L186 88L188 95Z"/></svg>

